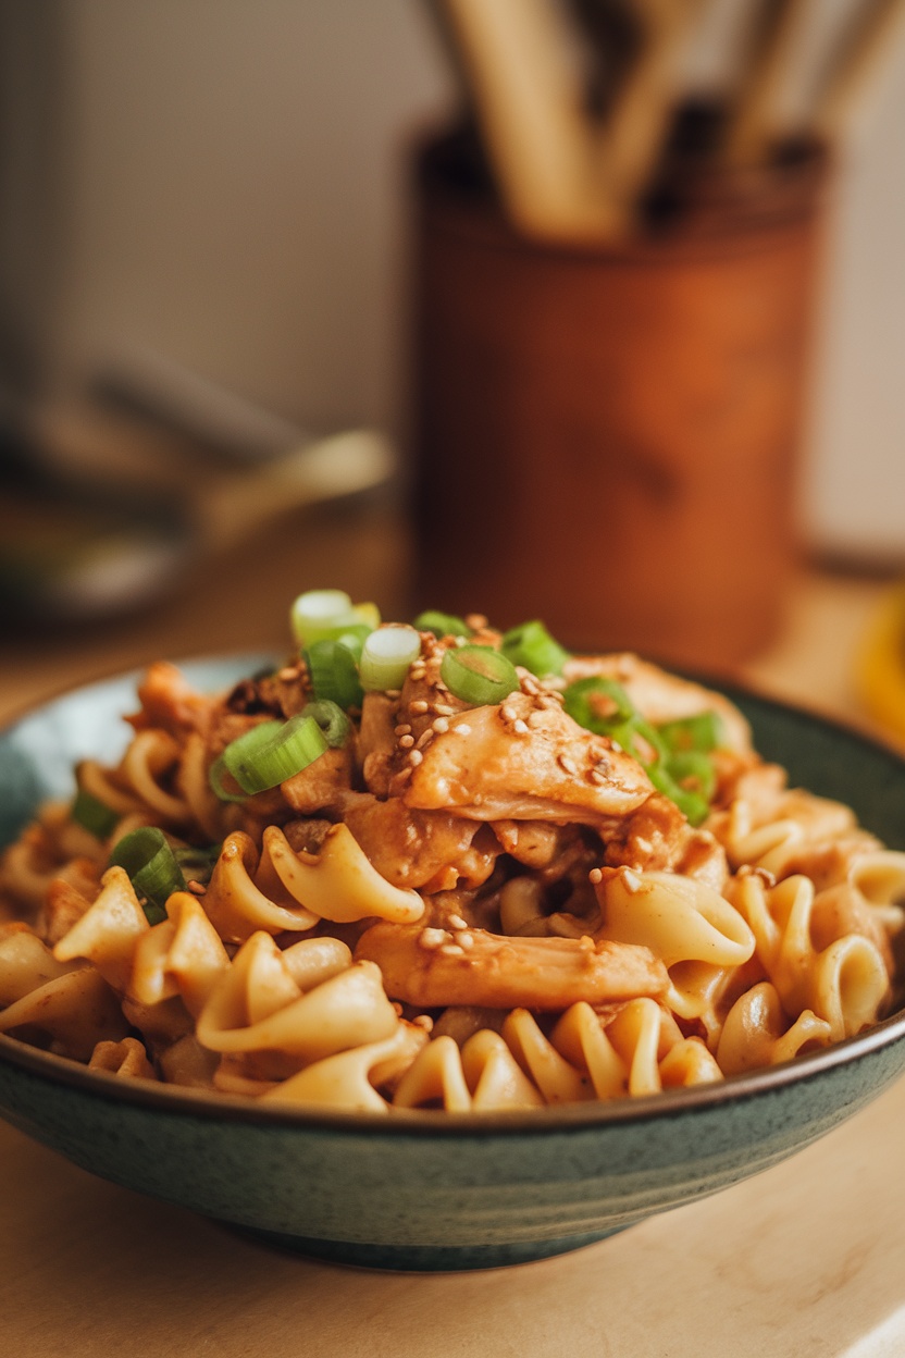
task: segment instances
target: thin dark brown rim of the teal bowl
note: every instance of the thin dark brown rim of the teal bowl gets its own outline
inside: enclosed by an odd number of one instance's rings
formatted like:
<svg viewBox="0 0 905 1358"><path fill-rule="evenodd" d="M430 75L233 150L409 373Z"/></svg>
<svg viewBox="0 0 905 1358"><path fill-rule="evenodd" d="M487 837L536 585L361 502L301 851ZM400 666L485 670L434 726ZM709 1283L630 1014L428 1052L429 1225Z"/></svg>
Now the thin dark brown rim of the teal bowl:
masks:
<svg viewBox="0 0 905 1358"><path fill-rule="evenodd" d="M273 664L274 657L266 652L251 653L210 653L183 657L172 661L182 665L236 664L258 667ZM84 679L75 687L61 687L43 697L37 703L26 705L0 727L5 735L20 721L37 716L42 708L94 684L104 682L126 682L137 679L147 667L138 665L128 671L100 672ZM252 668L248 672L254 672ZM742 683L730 675L695 675L697 682L710 684L716 691L749 697L756 702L772 706L801 721L830 728L840 735L848 735L877 751L891 756L902 766L905 775L905 748L894 740L883 739L852 718L839 718L821 712L817 706L805 706L776 697L757 684ZM225 1095L205 1089L190 1089L166 1085L151 1080L122 1077L104 1070L90 1070L66 1057L30 1047L15 1038L0 1033L0 1062L38 1076L50 1084L65 1085L83 1093L95 1095L109 1103L130 1104L161 1114L183 1114L224 1122L254 1123L258 1126L297 1126L309 1131L342 1131L347 1134L381 1134L402 1137L487 1137L509 1134L548 1134L571 1130L606 1127L615 1123L636 1123L659 1120L699 1108L714 1108L726 1103L744 1103L764 1095L777 1093L788 1085L805 1084L820 1078L832 1070L851 1065L894 1046L905 1039L905 1008L882 1019L872 1028L845 1038L832 1047L806 1052L776 1066L727 1076L723 1080L680 1089L665 1089L655 1095L612 1100L588 1100L586 1103L563 1104L532 1109L494 1112L441 1112L437 1109L393 1108L388 1114L347 1109L304 1108L294 1104L262 1104L255 1099L239 1095Z"/></svg>

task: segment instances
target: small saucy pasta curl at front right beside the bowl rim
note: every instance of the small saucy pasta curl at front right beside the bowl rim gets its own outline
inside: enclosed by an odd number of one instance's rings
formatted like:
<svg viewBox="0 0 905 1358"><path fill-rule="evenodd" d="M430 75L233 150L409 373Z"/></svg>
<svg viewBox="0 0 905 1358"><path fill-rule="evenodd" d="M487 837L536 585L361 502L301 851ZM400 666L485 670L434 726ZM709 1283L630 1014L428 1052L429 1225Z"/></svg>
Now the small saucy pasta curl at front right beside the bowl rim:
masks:
<svg viewBox="0 0 905 1358"><path fill-rule="evenodd" d="M791 1061L830 1042L830 1025L810 1009L795 1021L787 1017L776 987L761 980L739 995L719 1038L716 1061L727 1076Z"/></svg>

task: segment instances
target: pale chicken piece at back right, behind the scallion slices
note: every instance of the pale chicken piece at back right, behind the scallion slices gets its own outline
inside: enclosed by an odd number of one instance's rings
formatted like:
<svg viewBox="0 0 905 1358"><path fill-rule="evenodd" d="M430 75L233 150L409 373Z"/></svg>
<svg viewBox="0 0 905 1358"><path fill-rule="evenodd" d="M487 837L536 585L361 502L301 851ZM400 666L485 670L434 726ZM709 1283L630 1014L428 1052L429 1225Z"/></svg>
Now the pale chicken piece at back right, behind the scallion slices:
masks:
<svg viewBox="0 0 905 1358"><path fill-rule="evenodd" d="M738 708L723 694L678 675L670 675L630 652L612 656L575 656L563 669L566 683L604 675L620 683L635 708L654 725L678 721L701 712L715 712L723 722L726 743L737 754L752 752L752 733Z"/></svg>

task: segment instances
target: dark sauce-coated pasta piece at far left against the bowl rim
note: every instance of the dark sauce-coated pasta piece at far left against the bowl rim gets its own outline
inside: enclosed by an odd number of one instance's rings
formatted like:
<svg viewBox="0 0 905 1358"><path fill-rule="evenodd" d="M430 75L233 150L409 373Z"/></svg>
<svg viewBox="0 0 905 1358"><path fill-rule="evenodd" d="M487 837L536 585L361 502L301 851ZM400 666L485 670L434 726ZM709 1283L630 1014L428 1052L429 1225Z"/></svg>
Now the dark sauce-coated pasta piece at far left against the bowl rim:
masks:
<svg viewBox="0 0 905 1358"><path fill-rule="evenodd" d="M79 967L45 982L0 1012L0 1032L42 1033L52 1050L90 1061L99 1042L128 1036L119 1002L94 967Z"/></svg>

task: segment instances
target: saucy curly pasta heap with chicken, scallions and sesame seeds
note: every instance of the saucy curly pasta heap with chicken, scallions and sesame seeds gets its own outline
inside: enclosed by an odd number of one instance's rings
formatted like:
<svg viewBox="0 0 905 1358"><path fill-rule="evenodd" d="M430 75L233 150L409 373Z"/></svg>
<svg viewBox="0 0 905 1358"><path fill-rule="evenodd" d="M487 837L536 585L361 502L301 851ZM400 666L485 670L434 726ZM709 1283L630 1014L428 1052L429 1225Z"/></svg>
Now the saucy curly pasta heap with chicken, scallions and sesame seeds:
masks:
<svg viewBox="0 0 905 1358"><path fill-rule="evenodd" d="M171 665L0 862L0 1032L126 1080L469 1114L655 1095L890 1008L905 854L722 695L336 591ZM4 922L5 921L5 922Z"/></svg>

